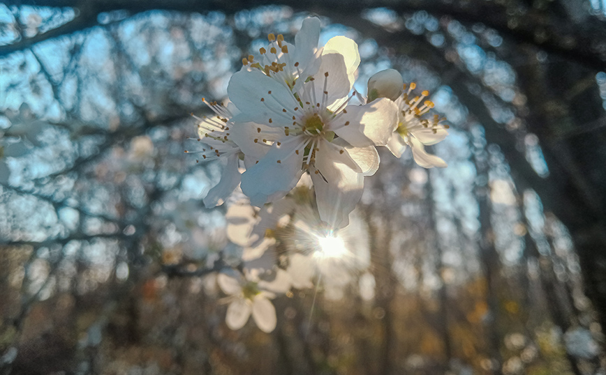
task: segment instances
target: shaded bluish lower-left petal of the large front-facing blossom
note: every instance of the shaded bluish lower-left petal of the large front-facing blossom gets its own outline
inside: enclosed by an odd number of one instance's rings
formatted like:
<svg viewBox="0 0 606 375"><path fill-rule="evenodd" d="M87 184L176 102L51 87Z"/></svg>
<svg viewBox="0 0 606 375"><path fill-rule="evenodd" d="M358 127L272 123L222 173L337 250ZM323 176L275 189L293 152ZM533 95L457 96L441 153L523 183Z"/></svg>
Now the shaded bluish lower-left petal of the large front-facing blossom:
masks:
<svg viewBox="0 0 606 375"><path fill-rule="evenodd" d="M276 142L258 164L246 169L242 174L241 187L242 192L250 197L251 204L265 204L273 194L286 195L295 187L302 173L305 148L302 141L302 137L290 137L281 141L280 146Z"/></svg>

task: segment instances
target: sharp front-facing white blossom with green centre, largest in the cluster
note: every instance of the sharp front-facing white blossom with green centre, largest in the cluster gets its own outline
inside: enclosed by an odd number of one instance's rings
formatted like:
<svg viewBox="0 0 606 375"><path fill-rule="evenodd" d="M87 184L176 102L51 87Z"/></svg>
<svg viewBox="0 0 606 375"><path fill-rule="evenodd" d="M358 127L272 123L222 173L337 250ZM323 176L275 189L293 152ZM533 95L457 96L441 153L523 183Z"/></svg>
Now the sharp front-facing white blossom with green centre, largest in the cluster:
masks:
<svg viewBox="0 0 606 375"><path fill-rule="evenodd" d="M364 176L378 169L374 146L387 144L397 125L397 107L388 99L348 106L360 63L353 40L343 36L329 40L321 54L314 54L320 63L309 76L297 70L300 62L288 51L287 47L276 55L283 62L273 68L235 73L228 86L230 99L241 112L238 121L281 132L270 141L258 128L252 142L239 144L244 153L245 148L269 146L265 156L242 175L242 192L261 206L286 195L308 171L320 218L334 228L345 227L362 195Z"/></svg>

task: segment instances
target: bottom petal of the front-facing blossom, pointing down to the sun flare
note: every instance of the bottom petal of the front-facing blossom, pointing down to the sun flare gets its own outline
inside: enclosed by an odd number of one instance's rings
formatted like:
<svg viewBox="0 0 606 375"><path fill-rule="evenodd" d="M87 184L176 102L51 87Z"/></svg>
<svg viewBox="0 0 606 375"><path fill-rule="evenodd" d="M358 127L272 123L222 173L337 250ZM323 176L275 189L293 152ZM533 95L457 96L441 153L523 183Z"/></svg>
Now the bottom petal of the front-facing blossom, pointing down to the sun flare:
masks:
<svg viewBox="0 0 606 375"><path fill-rule="evenodd" d="M348 158L332 148L319 147L315 167L311 173L316 190L320 219L335 229L346 227L349 213L362 197L364 176L348 165Z"/></svg>

